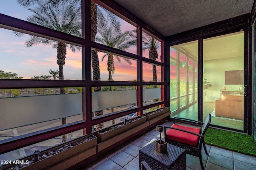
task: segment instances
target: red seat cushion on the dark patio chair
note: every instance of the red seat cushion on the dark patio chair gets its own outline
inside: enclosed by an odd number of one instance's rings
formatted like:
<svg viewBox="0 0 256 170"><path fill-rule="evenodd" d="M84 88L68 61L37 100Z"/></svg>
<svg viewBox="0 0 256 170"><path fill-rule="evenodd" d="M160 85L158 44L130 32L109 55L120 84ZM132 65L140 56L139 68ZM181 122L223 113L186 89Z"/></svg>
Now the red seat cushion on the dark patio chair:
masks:
<svg viewBox="0 0 256 170"><path fill-rule="evenodd" d="M175 124L172 125L172 127L200 134L200 128L187 127L187 126L181 126L181 125L175 125ZM166 132L166 135L167 135L167 139L172 141L177 141L177 142L185 143L192 146L198 145L199 136L193 135L191 133L178 131L176 129L169 129Z"/></svg>

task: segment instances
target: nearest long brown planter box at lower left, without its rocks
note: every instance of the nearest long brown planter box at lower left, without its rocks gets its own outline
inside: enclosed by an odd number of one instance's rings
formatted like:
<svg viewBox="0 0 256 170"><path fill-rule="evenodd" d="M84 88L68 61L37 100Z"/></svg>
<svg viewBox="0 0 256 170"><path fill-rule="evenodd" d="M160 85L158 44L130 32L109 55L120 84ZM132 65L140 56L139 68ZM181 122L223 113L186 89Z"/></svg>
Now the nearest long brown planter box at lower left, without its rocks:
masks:
<svg viewBox="0 0 256 170"><path fill-rule="evenodd" d="M94 135L86 135L83 137L80 137L78 139L75 139L74 141L68 141L64 144L52 147L50 149L41 151L39 156L42 157L42 155L48 154L49 151L56 151L57 149L60 149L64 147L65 145L74 144L76 142L80 142L83 139L87 139L88 137L92 137L89 141L85 141L84 143L80 143L78 145L75 145L69 149L63 150L61 152L58 152L56 154L53 154L52 156L48 158L44 158L39 160L38 162L34 162L32 164L29 164L28 166L24 166L21 169L22 170L44 170L44 169L63 169L60 168L60 166L69 168L76 164L77 161L82 161L89 156L92 156L93 154L96 154L96 146L97 146L97 138ZM25 165L26 161L31 161L32 158L34 158L34 155L27 156L23 158ZM73 160L70 162L70 160ZM77 162L78 163L78 162ZM9 164L4 167L2 167L2 170L7 170L8 168L11 168L15 166L15 164ZM54 168L55 167L55 168ZM59 168L58 168L59 167Z"/></svg>

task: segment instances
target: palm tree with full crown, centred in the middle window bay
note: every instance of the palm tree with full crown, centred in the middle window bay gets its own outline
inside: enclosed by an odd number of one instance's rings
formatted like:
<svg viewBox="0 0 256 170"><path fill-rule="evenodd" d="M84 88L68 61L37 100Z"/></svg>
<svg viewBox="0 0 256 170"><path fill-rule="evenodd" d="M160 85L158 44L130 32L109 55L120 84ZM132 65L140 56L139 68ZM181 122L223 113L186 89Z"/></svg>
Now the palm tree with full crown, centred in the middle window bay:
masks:
<svg viewBox="0 0 256 170"><path fill-rule="evenodd" d="M118 23L120 25L120 23ZM100 33L101 36L96 36L95 40L107 45L109 47L113 47L116 49L120 50L125 50L128 49L131 45L133 45L130 41L130 36L129 36L129 31L125 31L122 33L120 26L118 28L112 27L111 25L107 27L107 29L98 27L98 32ZM120 57L113 55L113 54L106 54L102 56L102 61L105 59L105 57L108 56L108 80L109 81L114 81L112 79L112 74L115 72L115 65L114 65L114 57L115 59L120 63ZM130 59L121 57L126 61L128 64L132 65ZM113 91L114 87L110 87L110 91ZM114 112L114 109L111 109L112 112ZM112 124L115 124L115 120L112 120Z"/></svg>

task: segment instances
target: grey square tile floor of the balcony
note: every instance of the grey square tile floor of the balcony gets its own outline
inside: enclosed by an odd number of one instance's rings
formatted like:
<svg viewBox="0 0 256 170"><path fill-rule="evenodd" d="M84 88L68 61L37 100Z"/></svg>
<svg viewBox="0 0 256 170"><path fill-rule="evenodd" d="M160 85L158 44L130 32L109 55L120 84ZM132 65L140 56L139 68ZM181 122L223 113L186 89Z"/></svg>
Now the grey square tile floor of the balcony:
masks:
<svg viewBox="0 0 256 170"><path fill-rule="evenodd" d="M165 122L162 125L172 125ZM164 137L164 133L161 134ZM100 156L95 163L79 170L139 170L139 149L159 139L156 128L146 131L115 149ZM256 170L256 157L206 145L208 155L202 150L206 170ZM200 170L199 158L186 154L186 169Z"/></svg>

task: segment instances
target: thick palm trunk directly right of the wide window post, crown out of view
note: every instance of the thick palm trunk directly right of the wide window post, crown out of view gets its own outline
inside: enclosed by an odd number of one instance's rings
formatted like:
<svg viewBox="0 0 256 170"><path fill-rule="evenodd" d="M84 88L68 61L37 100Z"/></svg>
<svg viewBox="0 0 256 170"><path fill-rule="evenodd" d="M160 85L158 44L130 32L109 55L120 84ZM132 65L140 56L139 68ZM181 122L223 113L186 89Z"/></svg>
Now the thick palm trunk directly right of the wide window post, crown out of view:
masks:
<svg viewBox="0 0 256 170"><path fill-rule="evenodd" d="M95 41L95 35L97 33L97 23L98 23L97 5L95 2L91 1L91 40ZM100 81L100 64L99 58L96 51L91 51L92 58L92 79ZM94 92L101 92L101 87L94 87ZM103 115L103 111L96 111L95 116ZM96 125L96 130L103 129L104 124L100 123Z"/></svg>

